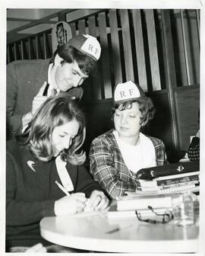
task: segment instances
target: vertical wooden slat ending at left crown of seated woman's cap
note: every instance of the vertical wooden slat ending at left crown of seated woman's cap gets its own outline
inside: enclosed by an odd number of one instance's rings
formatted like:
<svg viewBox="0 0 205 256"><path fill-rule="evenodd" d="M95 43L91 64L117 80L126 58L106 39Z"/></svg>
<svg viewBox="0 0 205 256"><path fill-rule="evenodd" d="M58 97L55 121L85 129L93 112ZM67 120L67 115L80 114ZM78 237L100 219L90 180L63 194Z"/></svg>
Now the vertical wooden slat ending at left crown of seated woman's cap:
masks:
<svg viewBox="0 0 205 256"><path fill-rule="evenodd" d="M117 21L117 11L109 11L109 24L110 24L110 34L112 42L112 62L114 66L115 75L115 85L122 82L121 74L121 58L120 58L120 46L119 46L119 36L118 36L118 21Z"/></svg>

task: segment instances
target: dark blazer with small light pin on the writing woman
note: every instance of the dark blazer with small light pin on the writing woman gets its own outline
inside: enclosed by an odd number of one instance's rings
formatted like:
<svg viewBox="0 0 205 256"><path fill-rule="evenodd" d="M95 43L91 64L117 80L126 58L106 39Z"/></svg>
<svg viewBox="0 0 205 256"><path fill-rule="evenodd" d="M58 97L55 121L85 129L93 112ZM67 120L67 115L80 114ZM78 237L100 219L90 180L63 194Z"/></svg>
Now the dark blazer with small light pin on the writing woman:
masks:
<svg viewBox="0 0 205 256"><path fill-rule="evenodd" d="M29 162L33 162L30 167ZM84 166L67 162L66 168L74 186L72 193L102 190ZM7 142L6 162L6 247L32 246L48 242L39 232L39 222L45 216L55 216L55 200L65 197L56 186L61 182L55 158L49 162L36 159L27 146L15 139Z"/></svg>

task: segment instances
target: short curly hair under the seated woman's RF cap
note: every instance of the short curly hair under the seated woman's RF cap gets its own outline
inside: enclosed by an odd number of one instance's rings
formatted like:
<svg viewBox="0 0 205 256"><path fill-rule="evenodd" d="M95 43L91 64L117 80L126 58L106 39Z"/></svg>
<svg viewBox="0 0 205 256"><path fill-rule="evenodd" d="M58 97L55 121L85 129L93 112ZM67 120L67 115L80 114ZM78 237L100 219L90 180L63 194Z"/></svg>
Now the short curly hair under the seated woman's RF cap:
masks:
<svg viewBox="0 0 205 256"><path fill-rule="evenodd" d="M141 112L140 124L144 123L144 126L153 119L155 114L155 107L153 106L153 101L148 97L140 97L135 100L125 101L121 104L114 104L112 107L112 116L115 114L115 110L127 110L131 109L132 104L137 102L139 105L139 110Z"/></svg>

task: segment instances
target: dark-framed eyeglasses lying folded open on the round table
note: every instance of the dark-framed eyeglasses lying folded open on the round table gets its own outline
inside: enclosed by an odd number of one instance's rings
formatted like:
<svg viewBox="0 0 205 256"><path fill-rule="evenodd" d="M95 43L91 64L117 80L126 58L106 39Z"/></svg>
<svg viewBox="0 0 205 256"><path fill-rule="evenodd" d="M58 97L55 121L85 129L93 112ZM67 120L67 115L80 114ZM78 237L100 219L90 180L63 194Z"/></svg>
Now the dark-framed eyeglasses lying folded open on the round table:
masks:
<svg viewBox="0 0 205 256"><path fill-rule="evenodd" d="M137 219L143 222L148 222L148 223L152 223L152 224L158 224L158 223L162 223L162 224L166 224L168 222L170 222L174 216L173 213L170 210L166 210L165 213L156 213L153 210L152 206L147 206L148 209L150 209L156 216L162 216L162 220L156 220L156 219L142 219L141 218L141 214L137 212L137 210L135 211L136 215L137 215Z"/></svg>

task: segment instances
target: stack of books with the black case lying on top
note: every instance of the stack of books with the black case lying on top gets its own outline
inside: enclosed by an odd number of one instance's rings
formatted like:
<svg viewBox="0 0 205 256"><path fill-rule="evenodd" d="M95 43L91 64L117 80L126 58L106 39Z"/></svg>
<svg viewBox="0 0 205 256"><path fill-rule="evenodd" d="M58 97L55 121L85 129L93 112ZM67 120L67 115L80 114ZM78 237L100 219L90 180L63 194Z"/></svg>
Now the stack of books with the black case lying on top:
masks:
<svg viewBox="0 0 205 256"><path fill-rule="evenodd" d="M199 190L199 162L144 168L137 172L137 191L167 194Z"/></svg>

